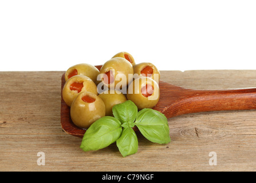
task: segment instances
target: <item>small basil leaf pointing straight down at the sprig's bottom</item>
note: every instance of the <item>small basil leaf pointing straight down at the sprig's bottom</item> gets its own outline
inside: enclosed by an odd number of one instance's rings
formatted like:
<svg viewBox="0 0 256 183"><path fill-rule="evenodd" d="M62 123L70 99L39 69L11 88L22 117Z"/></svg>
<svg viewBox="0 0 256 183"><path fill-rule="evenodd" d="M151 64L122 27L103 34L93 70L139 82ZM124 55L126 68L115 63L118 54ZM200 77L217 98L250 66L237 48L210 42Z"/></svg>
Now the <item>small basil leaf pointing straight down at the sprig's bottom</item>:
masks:
<svg viewBox="0 0 256 183"><path fill-rule="evenodd" d="M138 150L138 139L132 128L124 128L116 145L123 157L134 154Z"/></svg>

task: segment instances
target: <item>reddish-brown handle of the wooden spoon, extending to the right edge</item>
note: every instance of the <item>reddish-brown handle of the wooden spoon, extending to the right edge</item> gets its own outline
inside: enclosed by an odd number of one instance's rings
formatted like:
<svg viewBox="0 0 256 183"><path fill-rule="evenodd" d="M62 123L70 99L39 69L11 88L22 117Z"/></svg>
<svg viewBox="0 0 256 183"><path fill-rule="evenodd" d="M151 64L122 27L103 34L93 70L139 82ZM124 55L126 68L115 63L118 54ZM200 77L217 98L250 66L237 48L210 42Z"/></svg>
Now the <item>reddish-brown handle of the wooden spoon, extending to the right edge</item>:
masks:
<svg viewBox="0 0 256 183"><path fill-rule="evenodd" d="M163 111L167 117L221 110L256 109L256 88L239 90L185 90Z"/></svg>

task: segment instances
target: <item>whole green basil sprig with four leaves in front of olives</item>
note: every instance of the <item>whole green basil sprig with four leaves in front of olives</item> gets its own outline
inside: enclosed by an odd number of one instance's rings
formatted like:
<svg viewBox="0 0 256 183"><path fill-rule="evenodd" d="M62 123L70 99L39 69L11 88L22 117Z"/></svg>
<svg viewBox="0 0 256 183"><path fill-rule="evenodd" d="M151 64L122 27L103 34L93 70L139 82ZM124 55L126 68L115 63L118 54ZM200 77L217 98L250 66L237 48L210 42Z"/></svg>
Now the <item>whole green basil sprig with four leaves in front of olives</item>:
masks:
<svg viewBox="0 0 256 183"><path fill-rule="evenodd" d="M137 111L132 101L113 106L114 117L102 117L86 130L80 148L84 151L103 149L116 142L123 157L134 154L138 150L136 133L132 129L137 126L141 134L149 141L168 144L170 129L164 114L153 110Z"/></svg>

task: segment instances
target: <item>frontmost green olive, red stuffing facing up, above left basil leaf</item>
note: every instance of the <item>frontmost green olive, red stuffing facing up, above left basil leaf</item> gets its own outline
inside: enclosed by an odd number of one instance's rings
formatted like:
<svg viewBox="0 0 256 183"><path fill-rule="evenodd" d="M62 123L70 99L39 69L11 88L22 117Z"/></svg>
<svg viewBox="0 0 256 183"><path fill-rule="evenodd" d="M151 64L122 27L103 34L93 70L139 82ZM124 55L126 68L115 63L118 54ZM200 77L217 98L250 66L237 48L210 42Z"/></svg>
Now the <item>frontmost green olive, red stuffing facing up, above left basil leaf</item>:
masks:
<svg viewBox="0 0 256 183"><path fill-rule="evenodd" d="M94 121L105 116L104 102L96 94L81 92L70 107L70 117L79 128L87 129Z"/></svg>

